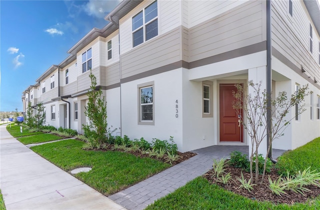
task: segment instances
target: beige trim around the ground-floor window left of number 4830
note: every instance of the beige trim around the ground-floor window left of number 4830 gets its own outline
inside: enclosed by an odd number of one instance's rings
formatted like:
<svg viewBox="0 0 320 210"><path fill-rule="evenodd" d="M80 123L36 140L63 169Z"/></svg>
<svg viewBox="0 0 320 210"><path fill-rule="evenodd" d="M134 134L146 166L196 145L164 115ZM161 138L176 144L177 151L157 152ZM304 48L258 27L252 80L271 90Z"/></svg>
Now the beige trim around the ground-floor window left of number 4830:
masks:
<svg viewBox="0 0 320 210"><path fill-rule="evenodd" d="M141 89L152 87L152 120L141 120ZM154 125L154 81L146 82L137 85L137 114L138 114L138 125Z"/></svg>

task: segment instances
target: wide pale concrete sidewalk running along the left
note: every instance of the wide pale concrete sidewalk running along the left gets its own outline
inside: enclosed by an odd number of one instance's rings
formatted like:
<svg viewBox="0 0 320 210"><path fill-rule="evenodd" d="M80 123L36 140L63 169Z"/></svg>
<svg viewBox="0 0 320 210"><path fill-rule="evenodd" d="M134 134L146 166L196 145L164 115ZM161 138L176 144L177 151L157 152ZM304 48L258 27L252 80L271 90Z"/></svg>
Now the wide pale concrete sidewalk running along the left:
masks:
<svg viewBox="0 0 320 210"><path fill-rule="evenodd" d="M40 157L0 126L0 189L9 209L125 209Z"/></svg>

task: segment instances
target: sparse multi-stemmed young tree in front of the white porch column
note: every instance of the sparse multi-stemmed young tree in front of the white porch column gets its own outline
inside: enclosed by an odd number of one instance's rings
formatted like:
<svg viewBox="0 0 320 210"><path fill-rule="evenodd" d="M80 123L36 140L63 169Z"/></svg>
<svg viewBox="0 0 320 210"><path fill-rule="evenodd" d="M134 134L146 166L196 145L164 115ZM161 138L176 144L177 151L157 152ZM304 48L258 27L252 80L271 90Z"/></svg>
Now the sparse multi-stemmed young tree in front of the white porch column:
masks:
<svg viewBox="0 0 320 210"><path fill-rule="evenodd" d="M267 154L270 151L271 143L274 139L283 135L284 129L289 125L290 121L295 118L286 118L292 107L303 102L304 97L308 95L308 86L299 88L294 94L288 98L285 91L279 92L275 99L268 97L266 90L261 90L261 82L254 84L249 81L248 86L252 88L252 94L247 94L247 89L241 84L235 85L237 91L233 93L235 101L233 101L233 108L235 110L242 109L245 117L246 124L243 123L244 129L247 131L251 139L251 155L250 160L250 176L253 178L252 163L253 157L258 157L258 147L262 141L268 141L267 153L264 160L264 167L262 173L262 180L264 179ZM271 107L267 107L267 102L270 100ZM271 109L272 116L270 129L267 129L267 109ZM304 104L296 106L297 115L301 114L304 109ZM241 115L241 121L243 122L243 116ZM268 137L268 139L266 139ZM255 158L255 183L258 182L258 158Z"/></svg>

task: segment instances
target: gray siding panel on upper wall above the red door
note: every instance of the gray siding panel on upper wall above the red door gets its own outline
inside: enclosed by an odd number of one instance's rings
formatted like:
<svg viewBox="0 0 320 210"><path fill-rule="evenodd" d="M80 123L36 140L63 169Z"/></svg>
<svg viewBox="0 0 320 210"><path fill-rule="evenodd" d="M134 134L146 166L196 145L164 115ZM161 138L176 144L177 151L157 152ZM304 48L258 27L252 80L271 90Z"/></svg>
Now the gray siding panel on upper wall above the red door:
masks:
<svg viewBox="0 0 320 210"><path fill-rule="evenodd" d="M189 62L265 41L263 7L249 1L190 28Z"/></svg>

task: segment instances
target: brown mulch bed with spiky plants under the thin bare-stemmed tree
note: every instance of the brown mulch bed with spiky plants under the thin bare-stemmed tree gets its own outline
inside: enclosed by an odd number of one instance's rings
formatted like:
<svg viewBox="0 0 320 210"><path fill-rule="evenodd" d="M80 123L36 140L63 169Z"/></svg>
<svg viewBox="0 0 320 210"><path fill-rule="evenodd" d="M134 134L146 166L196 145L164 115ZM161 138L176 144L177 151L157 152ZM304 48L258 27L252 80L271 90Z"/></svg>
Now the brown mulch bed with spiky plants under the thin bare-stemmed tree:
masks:
<svg viewBox="0 0 320 210"><path fill-rule="evenodd" d="M244 188L240 188L240 189L238 188L240 186L240 182L236 179L236 176L241 177L241 168L234 168L233 166L226 166L225 168L226 168L225 172L226 173L230 172L233 179L233 180L229 180L228 185L222 184L220 182L216 182L216 179L214 177L211 178L212 170L209 170L206 174L203 175L203 177L205 177L210 183L216 183L217 185L223 187L226 190L230 190L236 194L243 195L245 197L248 197L249 199L255 199L259 201L271 201L275 204L278 204L278 203L293 204L295 202L305 203L308 199L314 198L320 194L320 187L316 187L313 185L306 186L306 188L308 188L310 191L305 191L304 195L300 193L294 193L292 191L286 191L287 194L284 194L282 196L272 194L271 190L268 187L269 185L268 176L270 176L272 180L275 180L279 176L277 174L276 169L272 169L270 173L264 176L264 180L262 184L259 184L261 182L261 177L262 177L262 175L260 175L259 183L252 186L253 190L250 190L251 192L249 192ZM246 180L249 180L250 173L243 170L242 170L242 173L243 173L243 177ZM253 176L254 176L254 173L253 173ZM251 181L251 183L253 183L253 181Z"/></svg>

